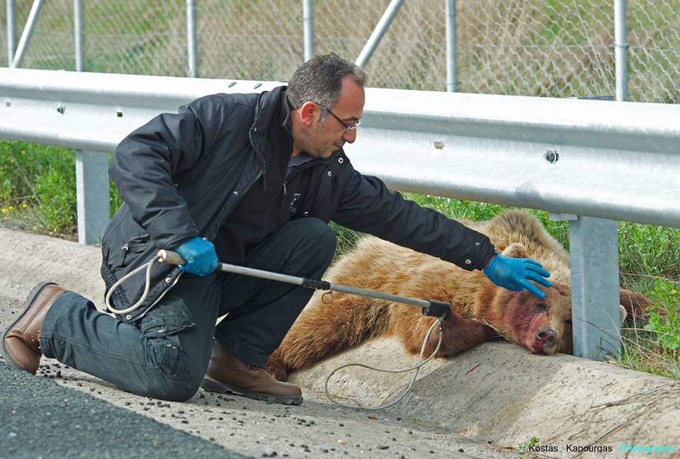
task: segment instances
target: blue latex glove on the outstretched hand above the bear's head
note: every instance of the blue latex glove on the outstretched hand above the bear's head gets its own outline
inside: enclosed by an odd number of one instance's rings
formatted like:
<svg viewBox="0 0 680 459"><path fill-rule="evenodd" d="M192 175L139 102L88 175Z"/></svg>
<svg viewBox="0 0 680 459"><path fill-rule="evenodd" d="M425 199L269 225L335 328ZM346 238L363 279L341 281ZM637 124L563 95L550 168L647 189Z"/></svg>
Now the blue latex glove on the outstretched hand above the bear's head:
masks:
<svg viewBox="0 0 680 459"><path fill-rule="evenodd" d="M545 271L537 261L504 256L498 252L482 272L499 287L516 292L521 292L526 288L539 298L545 298L545 293L529 280L535 280L546 287L553 285L550 280L546 279L550 277L550 273Z"/></svg>

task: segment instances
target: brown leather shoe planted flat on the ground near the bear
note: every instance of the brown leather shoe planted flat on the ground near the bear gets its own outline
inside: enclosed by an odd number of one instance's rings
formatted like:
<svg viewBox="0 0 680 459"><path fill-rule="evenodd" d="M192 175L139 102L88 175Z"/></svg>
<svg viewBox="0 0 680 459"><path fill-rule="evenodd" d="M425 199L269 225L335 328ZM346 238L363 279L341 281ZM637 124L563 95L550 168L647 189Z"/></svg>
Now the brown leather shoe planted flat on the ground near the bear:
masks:
<svg viewBox="0 0 680 459"><path fill-rule="evenodd" d="M217 339L212 341L212 356L201 387L210 392L230 392L267 403L302 403L300 387L277 381L264 368L242 361Z"/></svg>

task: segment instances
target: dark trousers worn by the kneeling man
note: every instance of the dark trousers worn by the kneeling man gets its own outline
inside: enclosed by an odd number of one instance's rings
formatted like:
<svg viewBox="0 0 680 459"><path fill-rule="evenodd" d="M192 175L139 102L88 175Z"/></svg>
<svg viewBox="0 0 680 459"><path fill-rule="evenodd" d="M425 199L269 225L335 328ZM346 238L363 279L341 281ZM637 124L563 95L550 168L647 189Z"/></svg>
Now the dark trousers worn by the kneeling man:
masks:
<svg viewBox="0 0 680 459"><path fill-rule="evenodd" d="M251 246L243 265L321 278L335 246L335 233L321 220L293 220ZM237 274L185 275L145 317L126 324L65 292L47 312L40 346L45 356L137 395L185 400L200 387L213 336L244 361L264 366L312 293Z"/></svg>

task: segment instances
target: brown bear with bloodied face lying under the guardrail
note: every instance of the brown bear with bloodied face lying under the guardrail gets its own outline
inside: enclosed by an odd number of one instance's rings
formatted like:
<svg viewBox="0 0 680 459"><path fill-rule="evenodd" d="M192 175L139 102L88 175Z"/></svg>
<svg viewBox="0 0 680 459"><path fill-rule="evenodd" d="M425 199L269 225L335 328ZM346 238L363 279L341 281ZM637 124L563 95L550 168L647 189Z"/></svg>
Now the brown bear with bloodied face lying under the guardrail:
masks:
<svg viewBox="0 0 680 459"><path fill-rule="evenodd" d="M341 257L325 277L331 283L380 290L394 295L450 302L438 356L465 351L502 335L533 353L572 353L572 298L567 251L538 219L520 210L504 210L492 220L464 225L487 234L499 252L540 262L551 273L551 288L540 299L524 290L500 288L480 271L465 271L441 259L365 237ZM433 317L419 307L346 293L315 294L271 355L267 369L279 380L322 358L380 335L397 335L409 353L420 353ZM650 301L621 290L622 308L642 315ZM625 312L623 312L625 314ZM436 348L435 329L426 356Z"/></svg>

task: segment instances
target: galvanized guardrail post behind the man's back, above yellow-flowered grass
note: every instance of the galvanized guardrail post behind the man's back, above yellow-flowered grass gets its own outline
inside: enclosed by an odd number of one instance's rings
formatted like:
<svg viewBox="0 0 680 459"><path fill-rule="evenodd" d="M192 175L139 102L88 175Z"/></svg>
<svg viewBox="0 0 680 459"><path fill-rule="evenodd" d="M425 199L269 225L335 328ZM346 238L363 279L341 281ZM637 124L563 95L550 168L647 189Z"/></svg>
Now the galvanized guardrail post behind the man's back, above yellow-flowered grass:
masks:
<svg viewBox="0 0 680 459"><path fill-rule="evenodd" d="M108 154L76 151L78 242L97 244L109 220Z"/></svg>

